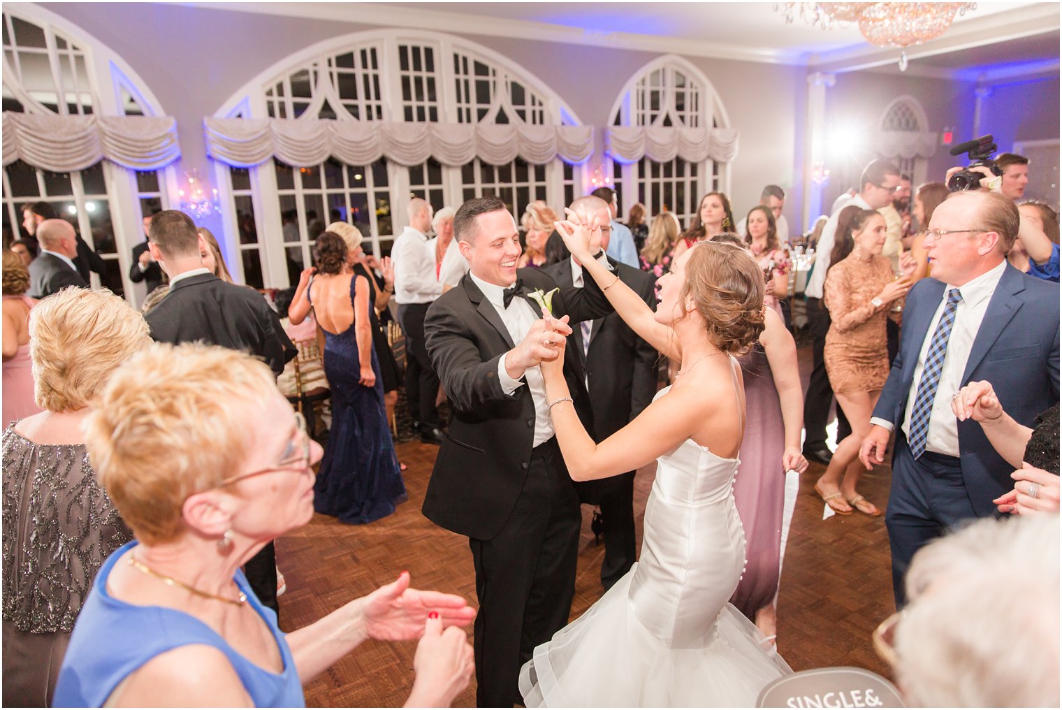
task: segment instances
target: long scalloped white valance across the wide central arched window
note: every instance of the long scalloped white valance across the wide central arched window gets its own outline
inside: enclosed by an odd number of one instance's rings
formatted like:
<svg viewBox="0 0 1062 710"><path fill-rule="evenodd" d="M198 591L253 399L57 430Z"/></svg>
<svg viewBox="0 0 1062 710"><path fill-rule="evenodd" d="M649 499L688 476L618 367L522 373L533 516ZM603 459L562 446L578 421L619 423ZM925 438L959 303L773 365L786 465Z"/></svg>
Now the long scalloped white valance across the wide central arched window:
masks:
<svg viewBox="0 0 1062 710"><path fill-rule="evenodd" d="M271 157L295 168L321 165L329 156L347 165L381 157L402 166L429 157L446 166L474 158L490 165L517 156L533 165L560 157L582 163L594 151L589 125L405 123L332 119L203 119L207 154L234 168L251 168Z"/></svg>

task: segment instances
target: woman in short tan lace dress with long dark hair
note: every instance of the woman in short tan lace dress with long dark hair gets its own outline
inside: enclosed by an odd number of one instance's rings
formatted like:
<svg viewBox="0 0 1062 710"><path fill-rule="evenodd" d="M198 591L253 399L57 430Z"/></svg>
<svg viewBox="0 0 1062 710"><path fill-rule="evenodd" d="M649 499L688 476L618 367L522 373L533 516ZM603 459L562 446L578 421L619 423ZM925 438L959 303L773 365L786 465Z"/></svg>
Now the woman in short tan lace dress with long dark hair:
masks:
<svg viewBox="0 0 1062 710"><path fill-rule="evenodd" d="M856 491L863 471L858 460L859 445L889 377L886 319L898 321L900 314L891 310L907 294L914 272L914 260L904 254L903 275L898 280L893 276L889 259L881 256L885 240L885 218L878 213L855 205L842 209L823 286L823 302L832 321L823 359L837 404L852 424L852 434L838 442L815 490L841 515L851 515L853 508L868 515L881 514Z"/></svg>

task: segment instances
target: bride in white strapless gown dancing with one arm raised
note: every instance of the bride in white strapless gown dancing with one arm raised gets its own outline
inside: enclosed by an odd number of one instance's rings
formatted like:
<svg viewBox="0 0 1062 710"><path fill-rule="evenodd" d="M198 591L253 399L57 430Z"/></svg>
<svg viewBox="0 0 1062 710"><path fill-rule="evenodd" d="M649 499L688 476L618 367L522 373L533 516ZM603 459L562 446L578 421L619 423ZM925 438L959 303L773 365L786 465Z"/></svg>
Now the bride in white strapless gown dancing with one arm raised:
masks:
<svg viewBox="0 0 1062 710"><path fill-rule="evenodd" d="M674 385L600 444L564 381L563 353L542 364L553 427L571 477L604 478L657 461L640 560L580 619L534 650L520 672L527 707L752 707L791 673L727 603L744 567L732 486L744 430L733 358L763 329L764 275L744 252L702 242L663 276L655 314L586 248L594 224L558 225L623 320L682 362Z"/></svg>

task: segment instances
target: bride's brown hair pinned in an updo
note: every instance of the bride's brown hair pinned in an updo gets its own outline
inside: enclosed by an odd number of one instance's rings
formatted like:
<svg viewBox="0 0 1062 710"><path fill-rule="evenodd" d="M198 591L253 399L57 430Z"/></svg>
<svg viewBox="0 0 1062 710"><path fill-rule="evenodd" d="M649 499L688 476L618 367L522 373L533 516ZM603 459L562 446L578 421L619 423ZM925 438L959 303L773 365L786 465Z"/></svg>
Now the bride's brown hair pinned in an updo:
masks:
<svg viewBox="0 0 1062 710"><path fill-rule="evenodd" d="M747 353L764 332L764 270L736 244L702 241L690 252L680 303L693 301L713 345L731 355Z"/></svg>

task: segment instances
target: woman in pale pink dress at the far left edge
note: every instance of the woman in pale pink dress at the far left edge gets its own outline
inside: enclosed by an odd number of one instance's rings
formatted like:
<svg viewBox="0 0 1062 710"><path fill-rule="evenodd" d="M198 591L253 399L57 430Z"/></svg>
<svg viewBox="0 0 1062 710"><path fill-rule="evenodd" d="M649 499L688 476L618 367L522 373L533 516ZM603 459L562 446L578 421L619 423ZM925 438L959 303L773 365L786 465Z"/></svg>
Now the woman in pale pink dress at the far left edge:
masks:
<svg viewBox="0 0 1062 710"><path fill-rule="evenodd" d="M30 272L18 254L3 253L3 428L35 415L33 371L30 364L30 308L36 303L25 294Z"/></svg>

